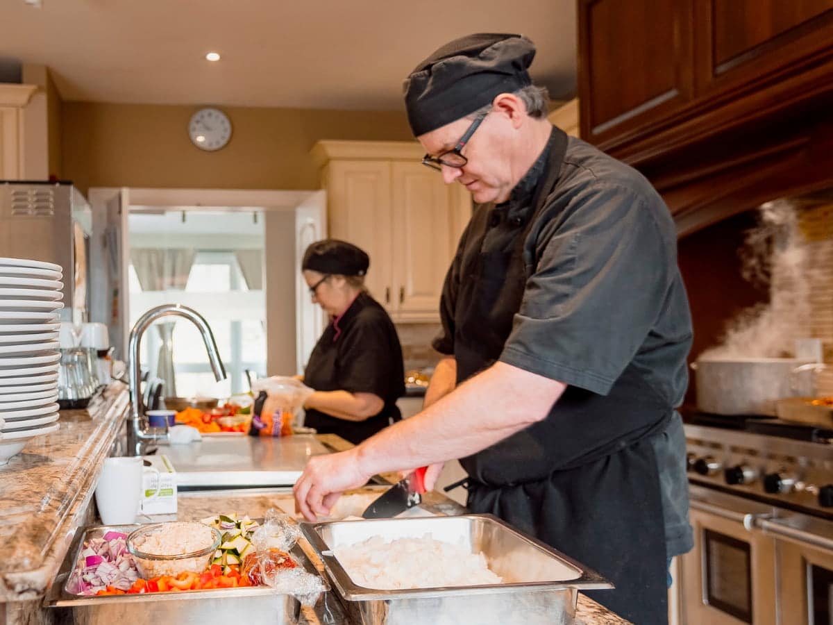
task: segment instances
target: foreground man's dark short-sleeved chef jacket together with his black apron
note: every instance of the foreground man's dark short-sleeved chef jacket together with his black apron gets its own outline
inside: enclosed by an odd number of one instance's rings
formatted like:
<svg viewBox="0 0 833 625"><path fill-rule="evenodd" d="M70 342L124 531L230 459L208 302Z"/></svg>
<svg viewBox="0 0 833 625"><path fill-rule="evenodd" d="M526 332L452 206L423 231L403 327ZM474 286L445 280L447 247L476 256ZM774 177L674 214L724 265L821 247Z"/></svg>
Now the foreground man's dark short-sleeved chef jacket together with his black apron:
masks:
<svg viewBox="0 0 833 625"><path fill-rule="evenodd" d="M665 622L666 553L691 542L674 411L691 318L659 195L554 128L510 200L476 208L441 320L458 383L500 360L568 385L545 420L461 458L469 507L596 568L616 591L594 598L622 616Z"/></svg>

